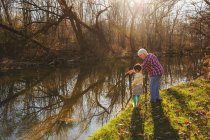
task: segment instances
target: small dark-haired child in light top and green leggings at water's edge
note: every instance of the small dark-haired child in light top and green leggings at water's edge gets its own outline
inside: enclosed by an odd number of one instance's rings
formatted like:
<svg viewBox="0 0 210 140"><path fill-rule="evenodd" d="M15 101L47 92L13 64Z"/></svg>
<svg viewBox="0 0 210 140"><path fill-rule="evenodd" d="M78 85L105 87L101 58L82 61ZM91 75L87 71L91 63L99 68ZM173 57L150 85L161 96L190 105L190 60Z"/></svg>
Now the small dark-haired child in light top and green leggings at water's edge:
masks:
<svg viewBox="0 0 210 140"><path fill-rule="evenodd" d="M143 93L143 74L141 70L141 65L136 64L133 67L133 70L130 70L128 74L134 73L134 80L132 82L132 91L133 91L133 105L137 107L140 101L140 94Z"/></svg>

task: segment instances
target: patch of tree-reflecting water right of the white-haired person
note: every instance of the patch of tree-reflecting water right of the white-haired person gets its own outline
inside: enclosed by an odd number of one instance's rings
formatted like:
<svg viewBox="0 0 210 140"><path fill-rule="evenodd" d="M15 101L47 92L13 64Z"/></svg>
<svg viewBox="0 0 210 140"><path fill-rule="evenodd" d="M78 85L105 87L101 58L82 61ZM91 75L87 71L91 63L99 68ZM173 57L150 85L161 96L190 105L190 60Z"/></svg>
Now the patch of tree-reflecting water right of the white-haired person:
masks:
<svg viewBox="0 0 210 140"><path fill-rule="evenodd" d="M164 67L165 75L162 85L169 85L192 80L200 72L200 56L167 56L160 58Z"/></svg>

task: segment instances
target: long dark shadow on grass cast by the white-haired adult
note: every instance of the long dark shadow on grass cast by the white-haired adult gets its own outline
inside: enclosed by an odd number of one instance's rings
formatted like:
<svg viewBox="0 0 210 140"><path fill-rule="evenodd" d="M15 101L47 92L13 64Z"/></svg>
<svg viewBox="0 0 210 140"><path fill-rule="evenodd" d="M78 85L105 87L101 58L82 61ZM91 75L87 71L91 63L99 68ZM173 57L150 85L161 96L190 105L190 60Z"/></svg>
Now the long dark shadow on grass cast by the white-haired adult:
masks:
<svg viewBox="0 0 210 140"><path fill-rule="evenodd" d="M161 102L152 103L151 107L154 122L154 140L178 140L179 134L164 115Z"/></svg>

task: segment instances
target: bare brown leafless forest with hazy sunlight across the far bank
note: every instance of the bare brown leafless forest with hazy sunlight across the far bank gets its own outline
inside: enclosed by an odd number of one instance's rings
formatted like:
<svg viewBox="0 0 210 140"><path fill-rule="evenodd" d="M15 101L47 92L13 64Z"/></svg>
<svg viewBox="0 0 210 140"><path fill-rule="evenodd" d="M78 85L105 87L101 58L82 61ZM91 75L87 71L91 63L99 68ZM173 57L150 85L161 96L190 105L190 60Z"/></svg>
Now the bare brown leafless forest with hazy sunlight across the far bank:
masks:
<svg viewBox="0 0 210 140"><path fill-rule="evenodd" d="M209 0L1 0L0 60L209 51Z"/></svg>

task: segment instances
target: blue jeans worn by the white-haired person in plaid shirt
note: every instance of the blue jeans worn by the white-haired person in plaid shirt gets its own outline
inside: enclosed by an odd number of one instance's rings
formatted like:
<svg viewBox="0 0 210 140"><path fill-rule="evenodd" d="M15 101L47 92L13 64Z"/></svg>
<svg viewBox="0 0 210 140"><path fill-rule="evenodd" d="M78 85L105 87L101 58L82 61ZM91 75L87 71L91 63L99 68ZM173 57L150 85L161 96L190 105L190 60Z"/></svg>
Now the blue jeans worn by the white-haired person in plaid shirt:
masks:
<svg viewBox="0 0 210 140"><path fill-rule="evenodd" d="M150 95L151 102L156 102L157 99L160 99L159 87L160 87L160 75L150 77Z"/></svg>

